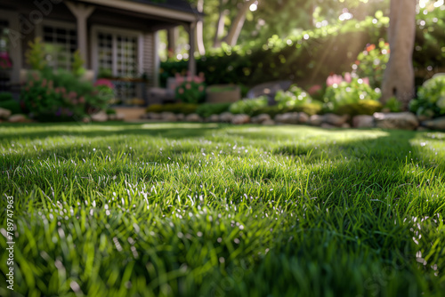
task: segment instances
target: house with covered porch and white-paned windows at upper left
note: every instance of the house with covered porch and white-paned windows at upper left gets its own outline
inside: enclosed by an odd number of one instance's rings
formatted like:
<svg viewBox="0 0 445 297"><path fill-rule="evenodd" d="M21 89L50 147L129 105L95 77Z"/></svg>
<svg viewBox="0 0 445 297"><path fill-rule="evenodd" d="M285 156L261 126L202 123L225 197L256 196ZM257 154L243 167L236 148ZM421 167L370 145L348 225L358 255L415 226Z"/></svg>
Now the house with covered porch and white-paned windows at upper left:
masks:
<svg viewBox="0 0 445 297"><path fill-rule="evenodd" d="M158 31L183 26L194 52L198 18L185 0L2 0L0 53L12 68L0 68L0 87L20 83L20 69L29 68L28 42L38 36L53 68L70 68L78 49L93 77L114 77L117 97L145 99L147 86L158 85Z"/></svg>

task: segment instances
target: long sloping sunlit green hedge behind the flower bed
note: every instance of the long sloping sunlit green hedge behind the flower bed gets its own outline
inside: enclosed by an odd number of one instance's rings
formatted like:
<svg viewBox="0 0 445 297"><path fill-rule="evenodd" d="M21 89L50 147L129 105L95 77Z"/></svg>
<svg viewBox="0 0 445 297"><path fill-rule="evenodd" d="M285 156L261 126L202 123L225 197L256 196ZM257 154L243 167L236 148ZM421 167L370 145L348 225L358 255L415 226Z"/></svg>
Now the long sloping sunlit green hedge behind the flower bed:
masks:
<svg viewBox="0 0 445 297"><path fill-rule="evenodd" d="M318 78L327 77L333 69L349 70L361 48L351 40L362 42L362 46L367 42L376 43L384 36L388 24L389 18L383 15L368 16L366 20L349 20L342 25L313 28L285 38L272 36L266 43L223 46L198 58L197 70L205 73L209 85L252 86L273 80L301 81L318 68L314 80L318 82ZM326 59L321 60L325 55ZM166 85L167 77L186 73L187 61L162 62L161 69L161 85Z"/></svg>

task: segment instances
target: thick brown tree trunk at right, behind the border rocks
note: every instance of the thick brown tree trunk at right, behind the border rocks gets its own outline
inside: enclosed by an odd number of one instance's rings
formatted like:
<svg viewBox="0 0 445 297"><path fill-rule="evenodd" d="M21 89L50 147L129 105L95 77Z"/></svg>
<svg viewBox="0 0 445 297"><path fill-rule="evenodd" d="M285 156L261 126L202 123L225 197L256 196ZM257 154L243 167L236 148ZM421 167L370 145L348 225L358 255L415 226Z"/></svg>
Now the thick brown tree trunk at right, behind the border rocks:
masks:
<svg viewBox="0 0 445 297"><path fill-rule="evenodd" d="M382 103L391 97L401 101L408 110L414 98L414 69L412 55L416 36L416 0L391 0L388 41L390 58L384 70Z"/></svg>

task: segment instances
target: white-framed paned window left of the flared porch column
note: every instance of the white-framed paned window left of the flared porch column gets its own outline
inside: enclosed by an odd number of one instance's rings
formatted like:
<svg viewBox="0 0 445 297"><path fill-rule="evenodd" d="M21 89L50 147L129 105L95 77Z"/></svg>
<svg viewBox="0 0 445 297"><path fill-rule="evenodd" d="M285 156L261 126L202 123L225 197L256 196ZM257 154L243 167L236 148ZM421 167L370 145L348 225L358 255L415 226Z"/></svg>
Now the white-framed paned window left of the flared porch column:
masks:
<svg viewBox="0 0 445 297"><path fill-rule="evenodd" d="M77 51L76 25L46 21L42 25L41 36L48 66L69 70Z"/></svg>

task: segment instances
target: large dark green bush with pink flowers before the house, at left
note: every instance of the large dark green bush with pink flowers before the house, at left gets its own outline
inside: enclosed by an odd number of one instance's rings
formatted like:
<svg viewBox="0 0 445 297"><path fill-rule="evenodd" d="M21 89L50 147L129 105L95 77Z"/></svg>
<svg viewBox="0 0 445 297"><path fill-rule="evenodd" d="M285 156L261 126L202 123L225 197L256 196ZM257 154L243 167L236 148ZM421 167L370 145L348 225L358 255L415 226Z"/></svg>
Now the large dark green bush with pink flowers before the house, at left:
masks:
<svg viewBox="0 0 445 297"><path fill-rule="evenodd" d="M105 109L109 97L101 92L101 85L81 81L65 70L45 68L28 76L20 99L39 121L67 121Z"/></svg>

